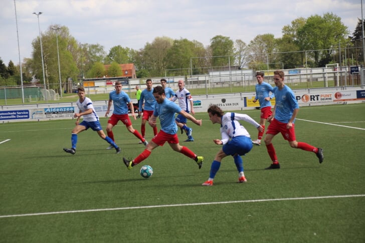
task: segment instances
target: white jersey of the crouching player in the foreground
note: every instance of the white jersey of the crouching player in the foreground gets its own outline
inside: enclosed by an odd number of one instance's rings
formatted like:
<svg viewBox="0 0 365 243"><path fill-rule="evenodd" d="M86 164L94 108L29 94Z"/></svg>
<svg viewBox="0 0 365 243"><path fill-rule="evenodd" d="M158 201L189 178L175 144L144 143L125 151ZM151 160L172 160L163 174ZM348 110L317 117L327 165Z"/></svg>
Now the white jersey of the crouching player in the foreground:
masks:
<svg viewBox="0 0 365 243"><path fill-rule="evenodd" d="M243 120L256 128L260 126L254 119L246 114L227 112L222 116L222 124L221 124L221 134L222 134L222 142L226 144L230 138L237 136L246 136L250 137L250 134L238 121Z"/></svg>

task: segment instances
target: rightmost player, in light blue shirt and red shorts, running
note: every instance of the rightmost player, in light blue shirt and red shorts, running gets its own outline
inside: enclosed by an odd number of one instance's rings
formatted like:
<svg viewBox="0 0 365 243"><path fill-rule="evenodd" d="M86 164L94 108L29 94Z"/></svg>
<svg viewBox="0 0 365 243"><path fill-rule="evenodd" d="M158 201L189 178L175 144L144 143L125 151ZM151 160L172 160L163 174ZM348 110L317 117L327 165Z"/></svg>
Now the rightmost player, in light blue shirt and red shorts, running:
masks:
<svg viewBox="0 0 365 243"><path fill-rule="evenodd" d="M275 107L273 114L267 119L270 122L265 135L265 145L272 160L272 164L266 169L279 169L280 164L276 156L275 148L271 141L279 132L285 140L288 140L290 147L300 148L313 152L317 155L319 163L323 162L323 150L304 142L297 142L295 138L294 122L299 112L299 105L293 91L284 84L284 72L276 70L274 72Z"/></svg>

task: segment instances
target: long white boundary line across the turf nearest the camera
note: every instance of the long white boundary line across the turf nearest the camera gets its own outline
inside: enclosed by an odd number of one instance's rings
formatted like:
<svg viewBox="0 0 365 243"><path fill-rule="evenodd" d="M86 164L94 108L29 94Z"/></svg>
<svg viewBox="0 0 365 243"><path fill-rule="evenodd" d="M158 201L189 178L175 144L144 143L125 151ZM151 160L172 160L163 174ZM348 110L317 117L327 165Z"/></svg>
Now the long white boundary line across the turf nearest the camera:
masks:
<svg viewBox="0 0 365 243"><path fill-rule="evenodd" d="M116 211L116 210L141 209L141 208L156 208L156 207L181 207L181 206L199 206L199 205L228 204L228 203L286 201L286 200L308 200L308 199L343 198L343 197L363 197L363 196L365 196L365 194L358 194L358 195L337 195L337 196L310 196L310 197L292 197L292 198L272 198L272 199L256 199L256 200L242 200L242 201L199 202L199 203L166 204L166 205L151 205L151 206L136 206L136 207L99 208L99 209L85 209L85 210L72 210L72 211L58 211L58 212L39 212L39 213L0 215L0 218L5 218L5 217L24 217L24 216L39 216L39 215L62 214L62 213L77 213L77 212Z"/></svg>

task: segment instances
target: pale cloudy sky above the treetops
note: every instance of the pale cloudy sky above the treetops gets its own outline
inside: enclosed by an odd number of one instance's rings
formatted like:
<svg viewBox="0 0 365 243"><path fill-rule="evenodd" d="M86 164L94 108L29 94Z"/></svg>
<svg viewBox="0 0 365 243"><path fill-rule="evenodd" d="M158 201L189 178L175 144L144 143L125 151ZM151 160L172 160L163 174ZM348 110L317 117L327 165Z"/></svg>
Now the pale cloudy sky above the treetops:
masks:
<svg viewBox="0 0 365 243"><path fill-rule="evenodd" d="M80 43L100 44L108 53L121 45L140 49L155 37L196 40L205 46L217 35L246 44L257 35L281 37L283 26L330 12L352 34L361 19L362 0L0 0L0 58L8 65L30 58L32 41L50 25L69 28ZM365 1L362 11L365 16Z"/></svg>

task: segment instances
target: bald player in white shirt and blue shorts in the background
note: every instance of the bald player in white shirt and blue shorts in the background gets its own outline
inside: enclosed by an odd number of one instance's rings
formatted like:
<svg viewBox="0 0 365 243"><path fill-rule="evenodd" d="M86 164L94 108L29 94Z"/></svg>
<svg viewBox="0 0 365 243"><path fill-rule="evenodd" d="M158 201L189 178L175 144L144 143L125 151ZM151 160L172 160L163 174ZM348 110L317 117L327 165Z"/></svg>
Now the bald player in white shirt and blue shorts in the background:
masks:
<svg viewBox="0 0 365 243"><path fill-rule="evenodd" d="M178 90L172 97L172 101L178 100L178 106L182 110L191 113L194 116L195 112L193 106L193 98L189 90L185 88L184 80L179 80L177 85L178 85ZM185 142L193 142L194 141L194 138L192 136L193 129L187 126L187 119L184 116L178 114L175 118L175 122L177 126L180 128L181 134L185 130L188 136L188 139L185 140Z"/></svg>

